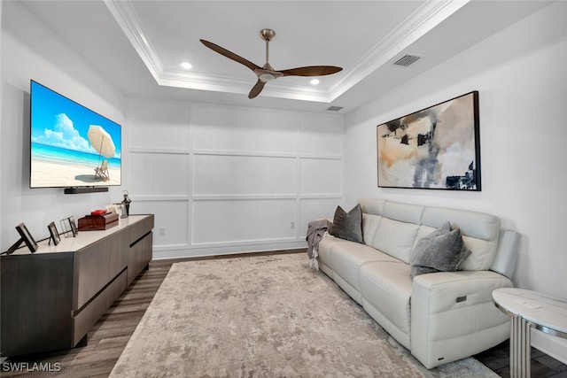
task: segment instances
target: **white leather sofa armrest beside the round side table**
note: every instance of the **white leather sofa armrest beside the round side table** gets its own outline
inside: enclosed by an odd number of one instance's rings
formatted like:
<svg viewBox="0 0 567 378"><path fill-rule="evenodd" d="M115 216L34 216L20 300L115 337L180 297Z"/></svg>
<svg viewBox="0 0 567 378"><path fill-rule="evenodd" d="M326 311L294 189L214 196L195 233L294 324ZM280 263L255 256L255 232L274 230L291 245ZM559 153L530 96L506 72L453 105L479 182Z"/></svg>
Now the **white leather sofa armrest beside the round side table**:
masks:
<svg viewBox="0 0 567 378"><path fill-rule="evenodd" d="M494 289L512 287L492 271L422 274L411 297L411 352L431 368L484 351L509 336L509 318L493 305Z"/></svg>

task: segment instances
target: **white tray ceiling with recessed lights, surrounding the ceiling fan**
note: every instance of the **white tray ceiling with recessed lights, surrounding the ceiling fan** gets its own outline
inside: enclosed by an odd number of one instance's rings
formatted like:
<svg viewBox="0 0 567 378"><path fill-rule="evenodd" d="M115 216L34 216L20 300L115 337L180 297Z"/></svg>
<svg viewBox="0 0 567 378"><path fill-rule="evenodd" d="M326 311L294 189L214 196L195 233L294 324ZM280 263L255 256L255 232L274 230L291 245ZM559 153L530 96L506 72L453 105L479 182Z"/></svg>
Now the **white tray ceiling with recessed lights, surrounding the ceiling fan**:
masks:
<svg viewBox="0 0 567 378"><path fill-rule="evenodd" d="M128 95L234 104L346 110L376 98L551 2L525 1L24 1L27 9ZM259 97L245 66L206 39L258 66L262 28L276 31L276 70L341 66L310 83L283 77ZM394 65L411 55L409 66ZM189 62L191 69L181 64Z"/></svg>

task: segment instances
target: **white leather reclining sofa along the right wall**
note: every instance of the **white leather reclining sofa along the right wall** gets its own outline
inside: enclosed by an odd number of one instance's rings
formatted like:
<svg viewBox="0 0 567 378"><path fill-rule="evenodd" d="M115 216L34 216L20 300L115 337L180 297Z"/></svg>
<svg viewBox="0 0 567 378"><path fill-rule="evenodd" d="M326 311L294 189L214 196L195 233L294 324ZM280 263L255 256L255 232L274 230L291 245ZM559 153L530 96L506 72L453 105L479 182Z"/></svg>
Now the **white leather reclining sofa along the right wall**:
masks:
<svg viewBox="0 0 567 378"><path fill-rule="evenodd" d="M489 214L381 199L359 200L364 243L333 236L318 246L319 267L391 336L431 368L509 338L494 289L511 287L519 234ZM449 221L470 257L456 272L410 275L417 241Z"/></svg>

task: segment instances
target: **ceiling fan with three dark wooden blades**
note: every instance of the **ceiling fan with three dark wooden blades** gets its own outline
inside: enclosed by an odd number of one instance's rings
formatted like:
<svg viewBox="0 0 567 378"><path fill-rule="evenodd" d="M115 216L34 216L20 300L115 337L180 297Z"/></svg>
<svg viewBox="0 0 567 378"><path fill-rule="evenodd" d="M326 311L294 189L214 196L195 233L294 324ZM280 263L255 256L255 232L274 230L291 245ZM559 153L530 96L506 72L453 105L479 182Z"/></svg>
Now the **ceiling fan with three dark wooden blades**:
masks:
<svg viewBox="0 0 567 378"><path fill-rule="evenodd" d="M331 73L338 73L340 70L342 70L341 67L336 66L306 66L291 68L289 70L276 71L274 67L270 66L270 64L268 63L268 44L272 39L274 39L275 36L276 32L272 29L260 30L260 38L266 41L266 64L261 67L256 66L251 61L238 56L234 52L222 48L218 44L208 42L204 39L201 39L199 41L201 41L209 49L214 50L219 54L240 63L241 65L247 66L254 73L256 73L256 76L258 76L258 81L256 81L256 84L252 87L252 90L248 94L248 98L254 98L255 96L260 95L260 92L262 91L262 89L264 89L264 85L266 85L268 81L274 81L282 76L323 76L329 75Z"/></svg>

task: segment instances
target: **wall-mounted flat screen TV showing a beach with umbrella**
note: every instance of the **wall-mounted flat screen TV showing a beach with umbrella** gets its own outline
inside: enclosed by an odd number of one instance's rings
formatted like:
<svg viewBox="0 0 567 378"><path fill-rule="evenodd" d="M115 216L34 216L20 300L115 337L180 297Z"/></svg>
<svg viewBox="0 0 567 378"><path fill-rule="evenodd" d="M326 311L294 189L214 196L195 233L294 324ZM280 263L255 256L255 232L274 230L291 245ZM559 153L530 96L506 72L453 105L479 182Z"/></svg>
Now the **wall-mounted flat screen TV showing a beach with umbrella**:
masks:
<svg viewBox="0 0 567 378"><path fill-rule="evenodd" d="M30 107L30 188L120 185L118 123L33 80Z"/></svg>

